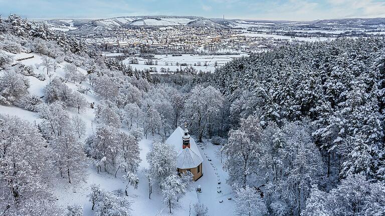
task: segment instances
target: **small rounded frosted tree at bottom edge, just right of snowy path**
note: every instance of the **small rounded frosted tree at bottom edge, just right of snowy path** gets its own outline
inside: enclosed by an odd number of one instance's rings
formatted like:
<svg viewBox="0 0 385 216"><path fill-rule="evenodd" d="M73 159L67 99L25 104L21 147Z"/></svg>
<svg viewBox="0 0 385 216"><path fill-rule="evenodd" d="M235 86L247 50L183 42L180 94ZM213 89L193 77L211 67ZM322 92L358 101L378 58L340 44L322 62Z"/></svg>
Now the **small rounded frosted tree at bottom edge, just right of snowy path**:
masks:
<svg viewBox="0 0 385 216"><path fill-rule="evenodd" d="M253 187L241 187L236 190L235 198L235 214L248 216L267 215L265 202L262 200L261 194Z"/></svg>

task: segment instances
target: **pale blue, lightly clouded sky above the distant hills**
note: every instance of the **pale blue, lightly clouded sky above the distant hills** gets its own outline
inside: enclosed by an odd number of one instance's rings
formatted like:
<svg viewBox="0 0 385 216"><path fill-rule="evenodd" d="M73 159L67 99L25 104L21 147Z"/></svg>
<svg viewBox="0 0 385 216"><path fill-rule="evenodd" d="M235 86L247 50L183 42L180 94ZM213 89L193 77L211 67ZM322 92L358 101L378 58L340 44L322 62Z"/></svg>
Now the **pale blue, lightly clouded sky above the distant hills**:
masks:
<svg viewBox="0 0 385 216"><path fill-rule="evenodd" d="M385 0L0 0L0 14L26 18L191 15L308 21L385 17Z"/></svg>

